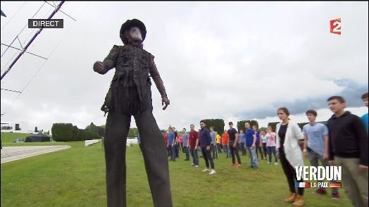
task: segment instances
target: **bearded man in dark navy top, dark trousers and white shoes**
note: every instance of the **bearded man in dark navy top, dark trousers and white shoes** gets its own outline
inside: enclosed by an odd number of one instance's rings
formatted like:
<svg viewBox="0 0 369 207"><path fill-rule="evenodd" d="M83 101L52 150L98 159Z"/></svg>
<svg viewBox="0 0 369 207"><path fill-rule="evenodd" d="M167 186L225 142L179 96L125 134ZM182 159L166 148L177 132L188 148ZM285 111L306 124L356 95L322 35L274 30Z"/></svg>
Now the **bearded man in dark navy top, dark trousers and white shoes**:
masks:
<svg viewBox="0 0 369 207"><path fill-rule="evenodd" d="M209 172L210 175L213 175L215 173L214 170L214 161L213 158L211 157L211 135L208 129L206 129L206 124L204 122L204 120L200 121L200 127L201 130L199 132L200 134L200 146L201 146L201 151L202 151L202 155L204 156L204 160L205 160L205 165L206 168L204 170L202 170L203 172ZM211 168L209 168L209 162L211 165Z"/></svg>

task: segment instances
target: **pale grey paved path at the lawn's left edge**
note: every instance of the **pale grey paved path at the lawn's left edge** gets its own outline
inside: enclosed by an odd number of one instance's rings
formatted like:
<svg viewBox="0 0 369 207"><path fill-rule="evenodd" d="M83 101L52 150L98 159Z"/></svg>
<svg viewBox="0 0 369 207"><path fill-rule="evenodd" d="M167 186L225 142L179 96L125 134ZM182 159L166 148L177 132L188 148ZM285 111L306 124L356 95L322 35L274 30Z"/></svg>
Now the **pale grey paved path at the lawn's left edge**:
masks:
<svg viewBox="0 0 369 207"><path fill-rule="evenodd" d="M3 146L1 149L1 163L16 161L23 158L37 156L43 153L69 149L69 145L54 146Z"/></svg>

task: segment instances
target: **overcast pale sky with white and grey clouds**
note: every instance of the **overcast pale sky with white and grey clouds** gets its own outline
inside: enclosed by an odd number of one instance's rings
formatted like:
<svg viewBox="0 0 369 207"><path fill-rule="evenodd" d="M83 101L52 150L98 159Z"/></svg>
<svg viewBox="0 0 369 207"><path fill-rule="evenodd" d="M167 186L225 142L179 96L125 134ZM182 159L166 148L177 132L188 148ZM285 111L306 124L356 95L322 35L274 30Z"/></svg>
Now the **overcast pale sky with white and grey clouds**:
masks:
<svg viewBox="0 0 369 207"><path fill-rule="evenodd" d="M10 44L43 4L1 1L7 15L1 16L1 43ZM114 69L99 75L92 65L114 44L123 44L120 25L132 18L146 25L144 49L154 54L170 99L163 111L153 84L154 116L161 129L199 127L204 118L223 118L226 127L228 121L251 119L266 126L279 121L281 106L296 122L306 122L304 112L311 108L318 111L317 120L327 120L332 113L326 100L332 95L344 96L356 115L368 112L361 101L368 92L367 1L66 1L61 11L77 21L56 13L64 28L44 29L27 50L49 60L25 54L1 80L1 89L25 88L18 99L1 90L1 122L25 121L30 129L44 130L53 123L104 125L100 107ZM51 12L44 4L34 18ZM330 33L335 18L342 18L342 35ZM22 46L36 31L20 33ZM13 46L21 47L18 39ZM1 54L5 49L1 45ZM8 49L1 57L1 74L18 53Z"/></svg>

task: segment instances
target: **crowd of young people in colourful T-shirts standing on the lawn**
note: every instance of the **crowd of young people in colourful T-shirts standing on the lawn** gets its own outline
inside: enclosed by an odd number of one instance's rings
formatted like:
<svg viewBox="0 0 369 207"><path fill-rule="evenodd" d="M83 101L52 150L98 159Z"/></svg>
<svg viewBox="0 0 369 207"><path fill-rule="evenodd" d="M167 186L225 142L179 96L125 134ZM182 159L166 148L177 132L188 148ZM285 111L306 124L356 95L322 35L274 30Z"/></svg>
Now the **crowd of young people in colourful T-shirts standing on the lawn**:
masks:
<svg viewBox="0 0 369 207"><path fill-rule="evenodd" d="M368 92L361 98L368 107ZM277 124L275 132L270 126L259 130L258 125L250 123L245 123L245 131L237 131L230 122L229 130L220 135L213 126L207 128L204 120L200 121L198 131L194 125L190 125L189 132L183 128L180 133L175 127L169 127L168 132L163 133L169 161L180 158L182 151L184 161L190 161L191 155L191 165L199 168L199 157L202 157L206 165L203 171L212 175L215 174L214 160L223 153L225 158L232 158L230 165L237 164L237 167L242 166L241 156L248 155L249 168L255 170L259 169L259 158L268 164L272 164L274 158L274 165L282 165L289 186L289 195L284 201L304 206L304 188L295 187L295 182L303 181L296 180L294 167L304 166L305 157L315 167L319 162L323 166L342 166L342 186L347 196L354 206L368 206L368 113L358 118L345 111L346 101L342 96L331 96L327 102L334 113L327 126L316 123L318 113L308 110L309 123L302 130L289 119L289 111L284 107L277 110L281 123ZM327 194L327 190L318 188L314 193ZM339 198L338 189L332 188L332 199Z"/></svg>

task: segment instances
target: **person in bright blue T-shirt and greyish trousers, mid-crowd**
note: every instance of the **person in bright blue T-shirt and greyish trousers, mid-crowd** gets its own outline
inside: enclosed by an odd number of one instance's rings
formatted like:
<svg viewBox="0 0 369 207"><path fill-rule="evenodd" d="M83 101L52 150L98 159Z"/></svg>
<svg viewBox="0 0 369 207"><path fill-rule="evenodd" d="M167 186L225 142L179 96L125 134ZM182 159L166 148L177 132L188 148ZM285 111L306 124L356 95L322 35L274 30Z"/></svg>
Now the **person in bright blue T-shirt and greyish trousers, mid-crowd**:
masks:
<svg viewBox="0 0 369 207"><path fill-rule="evenodd" d="M256 157L256 134L250 128L250 123L245 123L246 149L249 151L250 168L258 170L258 158Z"/></svg>

